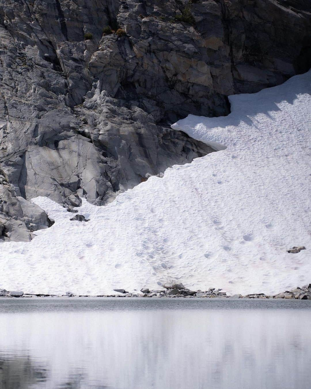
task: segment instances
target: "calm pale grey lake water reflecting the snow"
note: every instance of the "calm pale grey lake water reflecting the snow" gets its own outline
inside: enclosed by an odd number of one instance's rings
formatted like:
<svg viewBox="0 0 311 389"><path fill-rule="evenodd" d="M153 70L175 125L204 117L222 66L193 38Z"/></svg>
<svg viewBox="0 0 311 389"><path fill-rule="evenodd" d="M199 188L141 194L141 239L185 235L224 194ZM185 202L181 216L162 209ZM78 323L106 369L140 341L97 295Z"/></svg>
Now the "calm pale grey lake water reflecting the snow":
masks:
<svg viewBox="0 0 311 389"><path fill-rule="evenodd" d="M0 299L1 389L311 386L311 301Z"/></svg>

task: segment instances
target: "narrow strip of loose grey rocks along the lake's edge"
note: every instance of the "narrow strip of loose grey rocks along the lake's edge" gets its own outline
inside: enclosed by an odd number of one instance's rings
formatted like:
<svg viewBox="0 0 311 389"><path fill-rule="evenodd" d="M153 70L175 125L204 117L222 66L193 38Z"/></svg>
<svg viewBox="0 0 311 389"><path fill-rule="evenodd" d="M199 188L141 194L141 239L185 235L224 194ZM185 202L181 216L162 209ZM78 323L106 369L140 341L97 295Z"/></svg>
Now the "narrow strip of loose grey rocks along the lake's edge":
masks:
<svg viewBox="0 0 311 389"><path fill-rule="evenodd" d="M137 293L127 292L125 289L114 289L116 294L100 294L100 295L86 295L74 294L66 292L66 294L43 294L43 293L24 293L23 291L7 291L0 289L0 298L27 298L27 297L183 297L183 298L281 298L281 299L295 299L295 300L311 300L311 284L302 287L284 291L283 293L266 295L264 293L233 294L227 295L222 289L214 287L208 288L206 291L197 290L192 291L184 287L183 284L164 285L164 289L150 290L149 288L142 288Z"/></svg>

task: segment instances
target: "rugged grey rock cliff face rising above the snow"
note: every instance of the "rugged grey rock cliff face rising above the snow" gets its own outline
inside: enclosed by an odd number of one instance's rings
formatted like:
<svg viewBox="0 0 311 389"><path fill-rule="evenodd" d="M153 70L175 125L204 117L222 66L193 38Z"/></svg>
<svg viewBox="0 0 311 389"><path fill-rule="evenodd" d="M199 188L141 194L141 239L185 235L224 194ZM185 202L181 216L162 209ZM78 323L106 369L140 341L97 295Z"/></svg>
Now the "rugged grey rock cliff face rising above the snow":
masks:
<svg viewBox="0 0 311 389"><path fill-rule="evenodd" d="M308 70L310 37L304 0L0 0L2 238L51 224L35 196L104 205L213 151L169 125Z"/></svg>

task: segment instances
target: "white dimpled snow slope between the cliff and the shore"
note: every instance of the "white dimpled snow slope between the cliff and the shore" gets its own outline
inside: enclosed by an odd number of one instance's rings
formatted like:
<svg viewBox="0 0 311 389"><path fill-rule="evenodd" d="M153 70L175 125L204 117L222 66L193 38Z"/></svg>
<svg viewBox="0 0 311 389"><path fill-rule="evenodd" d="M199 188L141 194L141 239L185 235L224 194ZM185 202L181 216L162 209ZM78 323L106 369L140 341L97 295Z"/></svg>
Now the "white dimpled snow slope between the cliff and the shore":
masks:
<svg viewBox="0 0 311 389"><path fill-rule="evenodd" d="M308 72L231 96L227 117L174 124L221 151L151 177L106 207L83 202L88 223L34 199L55 224L30 243L1 244L0 287L101 294L178 279L244 294L311 282L310 84ZM293 245L307 250L288 254Z"/></svg>

